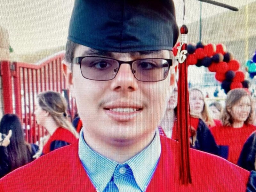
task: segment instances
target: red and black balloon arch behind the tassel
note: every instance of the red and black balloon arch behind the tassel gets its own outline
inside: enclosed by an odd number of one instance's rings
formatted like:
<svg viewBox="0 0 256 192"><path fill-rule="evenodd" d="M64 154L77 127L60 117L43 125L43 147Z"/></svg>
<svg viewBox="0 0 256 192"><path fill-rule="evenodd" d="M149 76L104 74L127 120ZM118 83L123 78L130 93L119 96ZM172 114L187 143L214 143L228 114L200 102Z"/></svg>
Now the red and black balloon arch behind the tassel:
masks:
<svg viewBox="0 0 256 192"><path fill-rule="evenodd" d="M176 56L178 52L178 43L173 48ZM187 64L196 65L197 67L207 67L209 71L216 72L215 79L221 82L221 88L225 93L235 88L248 88L249 81L245 80L244 73L239 71L240 63L234 59L234 56L226 51L224 44L206 44L198 42L197 44L189 43L187 47L188 56ZM256 56L255 56L256 60ZM256 64L255 75L256 75Z"/></svg>

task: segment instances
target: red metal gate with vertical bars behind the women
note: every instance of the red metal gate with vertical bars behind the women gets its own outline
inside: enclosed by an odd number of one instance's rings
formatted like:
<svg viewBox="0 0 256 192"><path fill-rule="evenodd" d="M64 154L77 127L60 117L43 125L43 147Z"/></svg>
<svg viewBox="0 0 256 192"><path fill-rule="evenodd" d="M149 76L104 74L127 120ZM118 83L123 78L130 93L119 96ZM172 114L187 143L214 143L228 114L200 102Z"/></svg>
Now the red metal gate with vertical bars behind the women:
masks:
<svg viewBox="0 0 256 192"><path fill-rule="evenodd" d="M36 95L52 90L68 95L70 120L76 113L75 100L68 94L61 60L64 52L56 53L40 63L1 61L4 114L15 113L24 127L30 143L40 141L46 130L36 124L34 106Z"/></svg>

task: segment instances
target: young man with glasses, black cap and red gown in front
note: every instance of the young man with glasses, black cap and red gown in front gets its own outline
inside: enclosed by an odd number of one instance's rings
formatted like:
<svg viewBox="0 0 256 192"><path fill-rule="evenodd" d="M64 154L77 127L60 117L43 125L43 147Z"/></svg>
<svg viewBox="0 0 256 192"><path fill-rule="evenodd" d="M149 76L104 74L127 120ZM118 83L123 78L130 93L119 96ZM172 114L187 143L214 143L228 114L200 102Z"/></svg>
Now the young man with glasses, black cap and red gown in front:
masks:
<svg viewBox="0 0 256 192"><path fill-rule="evenodd" d="M63 71L79 141L0 180L0 191L246 191L250 173L190 150L181 185L177 142L159 136L172 92L178 27L172 1L76 0Z"/></svg>

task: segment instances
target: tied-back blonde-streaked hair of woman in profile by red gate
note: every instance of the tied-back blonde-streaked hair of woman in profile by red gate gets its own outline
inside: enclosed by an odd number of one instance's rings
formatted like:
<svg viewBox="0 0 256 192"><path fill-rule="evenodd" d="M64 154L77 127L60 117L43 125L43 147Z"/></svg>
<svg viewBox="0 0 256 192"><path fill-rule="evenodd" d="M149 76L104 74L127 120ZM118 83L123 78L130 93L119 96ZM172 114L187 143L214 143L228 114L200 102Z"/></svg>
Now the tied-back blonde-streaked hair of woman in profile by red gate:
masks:
<svg viewBox="0 0 256 192"><path fill-rule="evenodd" d="M59 92L46 91L37 95L39 106L49 112L54 121L60 126L69 130L76 138L78 133L67 117L67 102Z"/></svg>

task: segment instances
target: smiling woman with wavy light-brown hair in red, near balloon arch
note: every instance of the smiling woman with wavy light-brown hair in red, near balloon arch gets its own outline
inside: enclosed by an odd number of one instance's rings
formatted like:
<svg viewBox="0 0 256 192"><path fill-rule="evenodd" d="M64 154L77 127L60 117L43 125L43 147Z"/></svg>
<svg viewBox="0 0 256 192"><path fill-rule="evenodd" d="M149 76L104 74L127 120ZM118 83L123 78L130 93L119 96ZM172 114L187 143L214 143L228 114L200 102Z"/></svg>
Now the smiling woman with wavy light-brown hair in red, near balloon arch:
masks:
<svg viewBox="0 0 256 192"><path fill-rule="evenodd" d="M237 164L247 138L256 130L252 125L252 100L243 88L228 92L220 117L222 125L212 127L212 135L220 147L220 156Z"/></svg>

